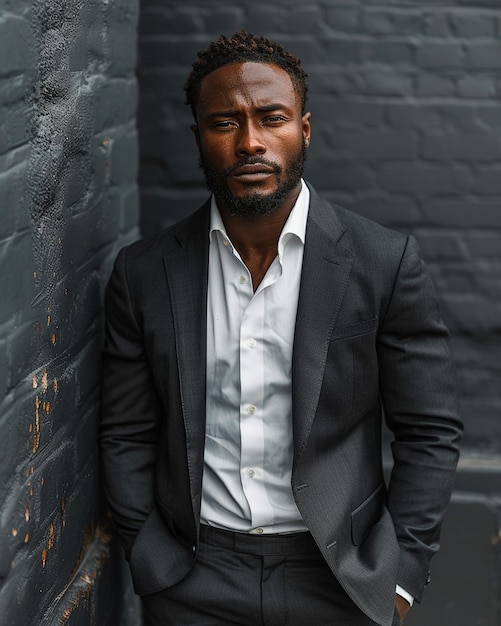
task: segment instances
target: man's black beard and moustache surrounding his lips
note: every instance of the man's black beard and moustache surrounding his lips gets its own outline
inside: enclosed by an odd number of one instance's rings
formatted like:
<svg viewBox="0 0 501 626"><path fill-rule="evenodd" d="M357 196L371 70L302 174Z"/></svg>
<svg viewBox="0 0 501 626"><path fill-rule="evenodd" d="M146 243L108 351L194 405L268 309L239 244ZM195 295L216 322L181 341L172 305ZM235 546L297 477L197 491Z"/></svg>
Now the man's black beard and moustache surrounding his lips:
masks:
<svg viewBox="0 0 501 626"><path fill-rule="evenodd" d="M214 194L217 201L230 211L230 215L235 217L250 217L270 215L282 206L290 192L293 191L301 181L306 157L306 144L303 142L299 153L286 163L284 177L282 177L284 171L283 167L278 165L278 163L268 161L259 156L241 159L238 163L227 167L221 173L215 170L204 155L200 153L199 165L204 172L207 188ZM275 191L267 194L261 194L255 191L243 196L235 196L228 185L228 178L231 176L232 172L239 167L254 165L256 163L261 163L273 168L277 188Z"/></svg>

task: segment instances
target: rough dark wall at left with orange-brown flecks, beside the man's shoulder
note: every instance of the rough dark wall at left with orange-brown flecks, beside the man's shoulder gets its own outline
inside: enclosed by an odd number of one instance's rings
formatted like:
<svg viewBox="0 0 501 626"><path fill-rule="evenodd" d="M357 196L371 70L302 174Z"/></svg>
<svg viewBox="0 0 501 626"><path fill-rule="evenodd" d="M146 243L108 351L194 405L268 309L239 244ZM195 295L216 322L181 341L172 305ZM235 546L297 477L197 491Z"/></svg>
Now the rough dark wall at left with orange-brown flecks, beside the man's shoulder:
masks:
<svg viewBox="0 0 501 626"><path fill-rule="evenodd" d="M96 444L103 286L137 236L137 17L135 0L0 0L5 626L138 623Z"/></svg>

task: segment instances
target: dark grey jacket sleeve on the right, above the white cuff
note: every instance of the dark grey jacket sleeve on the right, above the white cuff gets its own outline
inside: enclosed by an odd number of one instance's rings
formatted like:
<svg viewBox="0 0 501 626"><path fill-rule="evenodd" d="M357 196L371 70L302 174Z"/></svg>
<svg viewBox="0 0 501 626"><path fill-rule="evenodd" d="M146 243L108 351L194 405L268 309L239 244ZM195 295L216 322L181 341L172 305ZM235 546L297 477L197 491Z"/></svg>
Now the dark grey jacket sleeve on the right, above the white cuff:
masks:
<svg viewBox="0 0 501 626"><path fill-rule="evenodd" d="M388 508L401 549L397 583L420 601L453 487L462 424L449 335L412 237L380 326L378 359L394 434Z"/></svg>

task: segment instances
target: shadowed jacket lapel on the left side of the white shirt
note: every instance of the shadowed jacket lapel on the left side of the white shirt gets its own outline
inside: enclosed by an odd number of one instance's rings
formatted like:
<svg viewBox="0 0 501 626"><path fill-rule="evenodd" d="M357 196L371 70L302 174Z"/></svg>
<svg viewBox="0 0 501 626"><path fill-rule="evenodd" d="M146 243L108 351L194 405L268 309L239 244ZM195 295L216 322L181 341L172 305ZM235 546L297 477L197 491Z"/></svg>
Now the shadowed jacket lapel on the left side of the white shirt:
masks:
<svg viewBox="0 0 501 626"><path fill-rule="evenodd" d="M164 257L174 319L194 511L200 504L205 436L209 205L181 227Z"/></svg>

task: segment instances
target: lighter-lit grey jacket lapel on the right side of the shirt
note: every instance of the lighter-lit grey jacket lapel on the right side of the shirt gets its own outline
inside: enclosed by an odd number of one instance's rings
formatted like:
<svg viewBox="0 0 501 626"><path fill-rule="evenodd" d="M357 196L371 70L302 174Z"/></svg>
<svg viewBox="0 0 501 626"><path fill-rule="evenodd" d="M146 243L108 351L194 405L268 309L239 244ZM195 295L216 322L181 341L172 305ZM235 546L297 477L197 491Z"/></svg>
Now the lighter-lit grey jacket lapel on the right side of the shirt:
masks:
<svg viewBox="0 0 501 626"><path fill-rule="evenodd" d="M292 359L295 463L313 423L329 341L353 262L353 253L339 243L345 228L334 209L310 191Z"/></svg>

